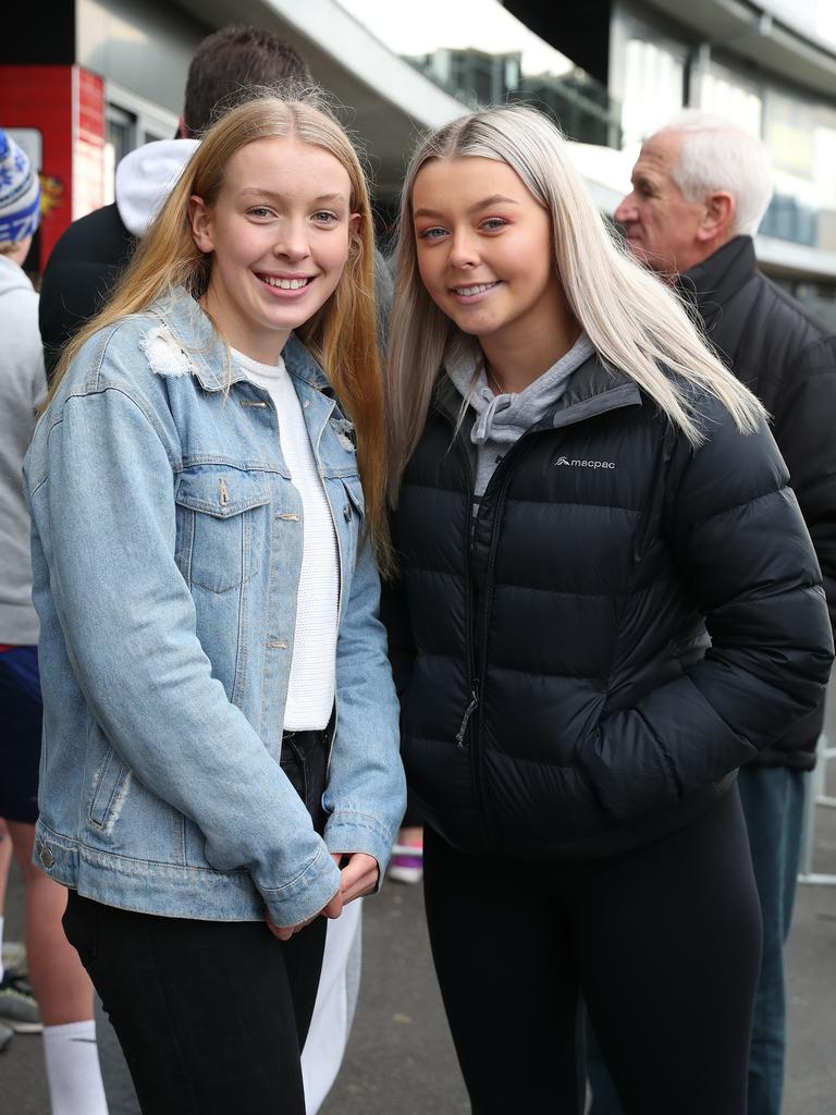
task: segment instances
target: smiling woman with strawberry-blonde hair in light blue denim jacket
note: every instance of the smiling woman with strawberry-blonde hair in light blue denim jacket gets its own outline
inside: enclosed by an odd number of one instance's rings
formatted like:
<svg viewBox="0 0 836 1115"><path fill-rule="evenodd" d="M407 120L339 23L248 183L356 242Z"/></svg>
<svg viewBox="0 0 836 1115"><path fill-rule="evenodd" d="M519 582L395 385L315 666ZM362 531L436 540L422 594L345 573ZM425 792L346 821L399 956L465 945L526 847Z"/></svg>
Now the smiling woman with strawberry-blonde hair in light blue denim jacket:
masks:
<svg viewBox="0 0 836 1115"><path fill-rule="evenodd" d="M25 474L36 854L144 1113L305 1111L325 919L404 812L363 174L314 100L205 135Z"/></svg>

